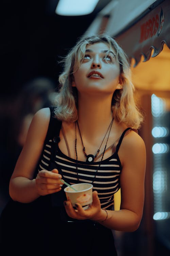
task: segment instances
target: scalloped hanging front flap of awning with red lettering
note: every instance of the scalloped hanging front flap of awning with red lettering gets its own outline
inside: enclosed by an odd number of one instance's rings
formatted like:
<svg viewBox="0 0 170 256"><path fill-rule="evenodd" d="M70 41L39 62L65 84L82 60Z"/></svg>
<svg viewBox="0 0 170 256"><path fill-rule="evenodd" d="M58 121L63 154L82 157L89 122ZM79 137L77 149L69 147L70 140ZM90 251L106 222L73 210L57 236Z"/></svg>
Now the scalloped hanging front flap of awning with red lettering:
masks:
<svg viewBox="0 0 170 256"><path fill-rule="evenodd" d="M147 61L157 56L164 44L170 48L170 1L166 0L141 18L135 25L116 36L116 40L135 59L136 66L141 55Z"/></svg>

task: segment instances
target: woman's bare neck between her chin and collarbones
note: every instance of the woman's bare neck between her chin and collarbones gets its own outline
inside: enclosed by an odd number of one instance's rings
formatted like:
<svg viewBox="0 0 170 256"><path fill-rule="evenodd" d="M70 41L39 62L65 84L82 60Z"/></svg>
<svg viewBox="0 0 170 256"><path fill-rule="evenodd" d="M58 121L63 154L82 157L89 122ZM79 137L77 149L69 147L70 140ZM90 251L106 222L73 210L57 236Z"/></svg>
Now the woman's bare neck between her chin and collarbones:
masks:
<svg viewBox="0 0 170 256"><path fill-rule="evenodd" d="M112 120L112 95L92 97L79 95L79 126L83 136L88 139L106 132Z"/></svg>

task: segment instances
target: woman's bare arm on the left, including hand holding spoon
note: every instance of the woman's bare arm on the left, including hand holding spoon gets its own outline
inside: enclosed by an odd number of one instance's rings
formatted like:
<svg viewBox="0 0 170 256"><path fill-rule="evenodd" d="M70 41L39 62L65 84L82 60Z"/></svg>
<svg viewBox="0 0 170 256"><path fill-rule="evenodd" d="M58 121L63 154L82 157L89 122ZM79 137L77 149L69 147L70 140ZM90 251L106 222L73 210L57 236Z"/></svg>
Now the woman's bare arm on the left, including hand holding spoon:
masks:
<svg viewBox="0 0 170 256"><path fill-rule="evenodd" d="M60 185L54 187L54 182L58 180L58 177L61 178L57 170L53 172L42 170L37 179L33 179L46 138L49 120L49 108L39 110L33 117L26 142L10 180L9 192L14 201L32 202L40 195L51 194L61 189Z"/></svg>

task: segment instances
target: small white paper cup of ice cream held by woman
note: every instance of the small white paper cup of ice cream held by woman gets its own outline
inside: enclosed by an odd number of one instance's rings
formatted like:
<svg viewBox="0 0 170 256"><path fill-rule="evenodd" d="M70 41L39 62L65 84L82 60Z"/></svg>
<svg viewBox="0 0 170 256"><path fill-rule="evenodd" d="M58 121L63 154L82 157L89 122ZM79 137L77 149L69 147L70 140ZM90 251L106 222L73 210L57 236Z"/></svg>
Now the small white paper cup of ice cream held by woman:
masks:
<svg viewBox="0 0 170 256"><path fill-rule="evenodd" d="M71 187L75 188L77 191L73 190ZM71 201L73 207L75 207L75 203L80 203L84 210L88 209L89 204L92 203L93 185L90 183L78 183L71 185L71 187L64 189L67 200Z"/></svg>

